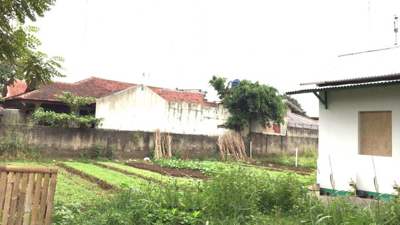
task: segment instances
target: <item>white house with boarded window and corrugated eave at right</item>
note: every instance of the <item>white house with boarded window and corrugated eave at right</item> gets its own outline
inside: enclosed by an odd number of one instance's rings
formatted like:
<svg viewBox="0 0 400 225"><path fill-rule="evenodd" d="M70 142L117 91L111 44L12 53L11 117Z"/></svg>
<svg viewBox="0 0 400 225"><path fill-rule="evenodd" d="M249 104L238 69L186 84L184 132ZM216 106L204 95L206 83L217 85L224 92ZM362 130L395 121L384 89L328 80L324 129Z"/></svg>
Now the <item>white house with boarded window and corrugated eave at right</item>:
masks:
<svg viewBox="0 0 400 225"><path fill-rule="evenodd" d="M320 188L343 195L354 181L368 196L392 194L400 184L400 73L303 85L316 87L287 94L320 100Z"/></svg>

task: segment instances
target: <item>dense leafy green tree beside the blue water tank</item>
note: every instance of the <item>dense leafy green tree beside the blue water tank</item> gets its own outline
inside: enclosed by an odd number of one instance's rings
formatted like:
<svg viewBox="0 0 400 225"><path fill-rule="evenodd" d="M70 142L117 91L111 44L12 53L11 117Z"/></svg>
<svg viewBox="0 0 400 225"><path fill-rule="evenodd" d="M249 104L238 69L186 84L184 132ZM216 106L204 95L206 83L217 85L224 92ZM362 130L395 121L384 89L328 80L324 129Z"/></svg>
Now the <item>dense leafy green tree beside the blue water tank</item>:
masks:
<svg viewBox="0 0 400 225"><path fill-rule="evenodd" d="M251 130L253 119L258 120L264 128L271 126L271 123L284 123L287 108L276 88L243 80L229 89L230 83L225 86L226 80L213 76L209 83L217 93L221 93L222 102L232 114L226 124L229 128L249 126Z"/></svg>

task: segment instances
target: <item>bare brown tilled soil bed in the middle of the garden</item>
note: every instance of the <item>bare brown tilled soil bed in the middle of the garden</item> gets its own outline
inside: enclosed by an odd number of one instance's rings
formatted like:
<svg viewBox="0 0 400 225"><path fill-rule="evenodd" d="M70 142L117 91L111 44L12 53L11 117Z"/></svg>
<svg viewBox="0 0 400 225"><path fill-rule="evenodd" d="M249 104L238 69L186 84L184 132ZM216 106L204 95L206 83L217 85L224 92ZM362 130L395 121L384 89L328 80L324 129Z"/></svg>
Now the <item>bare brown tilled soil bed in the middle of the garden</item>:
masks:
<svg viewBox="0 0 400 225"><path fill-rule="evenodd" d="M173 169L173 168L167 168L167 167L160 167L157 165L150 165L150 164L144 164L144 163L127 163L125 164L126 166L130 167L135 167L138 169L142 170L148 170L151 172L159 173L162 175L167 175L167 176L173 176L173 177L190 177L190 178L196 178L196 179L204 179L207 180L208 177L203 175L202 171L198 170L185 170L185 169Z"/></svg>

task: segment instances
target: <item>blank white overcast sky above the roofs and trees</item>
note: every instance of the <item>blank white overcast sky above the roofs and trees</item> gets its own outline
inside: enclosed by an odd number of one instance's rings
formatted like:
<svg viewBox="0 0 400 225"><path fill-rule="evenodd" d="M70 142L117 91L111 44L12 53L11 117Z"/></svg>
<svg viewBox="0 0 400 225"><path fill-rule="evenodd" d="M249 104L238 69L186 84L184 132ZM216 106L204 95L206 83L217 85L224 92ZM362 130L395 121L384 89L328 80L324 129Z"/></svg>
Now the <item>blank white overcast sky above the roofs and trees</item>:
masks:
<svg viewBox="0 0 400 225"><path fill-rule="evenodd" d="M215 101L213 75L281 93L342 79L338 55L393 46L397 13L400 1L57 0L34 25L40 50L65 58L57 81L202 89ZM318 116L313 94L292 97Z"/></svg>

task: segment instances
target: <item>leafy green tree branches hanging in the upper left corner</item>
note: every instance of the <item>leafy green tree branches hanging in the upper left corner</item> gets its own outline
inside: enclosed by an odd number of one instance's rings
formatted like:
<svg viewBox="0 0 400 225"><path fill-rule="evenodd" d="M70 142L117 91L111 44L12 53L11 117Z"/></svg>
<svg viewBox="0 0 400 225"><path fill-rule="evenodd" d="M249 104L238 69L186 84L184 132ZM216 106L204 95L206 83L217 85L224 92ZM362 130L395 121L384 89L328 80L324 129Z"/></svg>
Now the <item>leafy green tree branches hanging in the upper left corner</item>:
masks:
<svg viewBox="0 0 400 225"><path fill-rule="evenodd" d="M54 77L64 77L63 58L49 57L37 51L41 42L33 35L34 26L24 26L26 19L36 21L50 10L55 0L0 1L0 88L25 79L30 90L42 84L52 84ZM2 90L0 90L1 92Z"/></svg>

